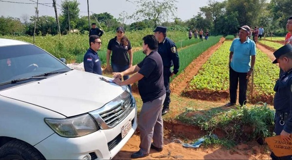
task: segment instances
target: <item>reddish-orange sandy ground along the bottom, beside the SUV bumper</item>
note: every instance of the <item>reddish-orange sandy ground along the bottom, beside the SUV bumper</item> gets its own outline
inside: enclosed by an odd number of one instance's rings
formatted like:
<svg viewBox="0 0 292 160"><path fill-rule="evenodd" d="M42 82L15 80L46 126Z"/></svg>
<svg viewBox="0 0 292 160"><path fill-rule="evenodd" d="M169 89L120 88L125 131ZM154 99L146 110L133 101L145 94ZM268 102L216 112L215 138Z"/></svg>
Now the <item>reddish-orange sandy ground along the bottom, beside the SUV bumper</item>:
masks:
<svg viewBox="0 0 292 160"><path fill-rule="evenodd" d="M133 135L113 160L130 159L130 155L139 150L140 138ZM265 147L256 142L240 144L235 148L226 150L219 147L211 148L185 148L180 143L164 139L162 152L150 149L149 156L139 160L270 160Z"/></svg>

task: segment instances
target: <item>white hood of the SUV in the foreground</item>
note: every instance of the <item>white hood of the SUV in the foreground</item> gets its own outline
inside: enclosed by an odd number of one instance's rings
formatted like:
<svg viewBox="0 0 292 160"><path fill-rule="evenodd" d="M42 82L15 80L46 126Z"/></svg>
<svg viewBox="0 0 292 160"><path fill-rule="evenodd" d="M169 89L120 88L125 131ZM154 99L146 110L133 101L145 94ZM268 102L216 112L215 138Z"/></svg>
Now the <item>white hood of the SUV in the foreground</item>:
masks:
<svg viewBox="0 0 292 160"><path fill-rule="evenodd" d="M98 109L126 90L99 77L101 75L73 70L2 90L0 95L71 117Z"/></svg>

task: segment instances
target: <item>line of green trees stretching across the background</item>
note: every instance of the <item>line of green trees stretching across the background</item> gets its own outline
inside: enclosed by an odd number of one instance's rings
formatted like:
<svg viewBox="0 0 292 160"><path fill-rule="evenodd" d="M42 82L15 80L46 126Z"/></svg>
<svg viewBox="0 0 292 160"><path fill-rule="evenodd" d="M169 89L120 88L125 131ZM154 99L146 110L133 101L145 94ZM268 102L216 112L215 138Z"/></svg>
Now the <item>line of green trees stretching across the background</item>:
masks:
<svg viewBox="0 0 292 160"><path fill-rule="evenodd" d="M137 8L132 15L123 11L119 18L110 13L91 13L90 21L97 22L104 31L115 31L118 26L124 26L127 31L154 28L164 25L169 30L188 31L189 29L209 30L211 35L231 35L237 33L237 27L249 25L263 26L265 33L284 36L287 19L292 16L290 0L224 0L222 2L209 0L207 6L200 7L200 12L193 18L183 21L175 17L176 0L136 0ZM89 18L79 16L77 0L62 1L59 14L61 35L78 30L81 34L89 31ZM57 35L56 18L51 16L23 15L20 18L0 17L0 35L29 35L33 36L36 20L36 35ZM171 22L169 18L172 18ZM70 21L69 21L70 19ZM129 20L134 20L126 24Z"/></svg>

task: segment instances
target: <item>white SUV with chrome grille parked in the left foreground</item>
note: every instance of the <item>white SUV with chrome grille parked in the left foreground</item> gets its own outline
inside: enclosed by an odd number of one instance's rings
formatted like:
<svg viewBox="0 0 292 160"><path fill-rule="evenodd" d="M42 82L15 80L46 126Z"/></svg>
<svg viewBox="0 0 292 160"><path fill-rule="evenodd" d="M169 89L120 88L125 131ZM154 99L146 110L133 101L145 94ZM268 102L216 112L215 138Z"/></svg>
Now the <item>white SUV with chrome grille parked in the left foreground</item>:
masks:
<svg viewBox="0 0 292 160"><path fill-rule="evenodd" d="M0 159L113 158L137 128L137 107L126 86L101 77L0 39Z"/></svg>

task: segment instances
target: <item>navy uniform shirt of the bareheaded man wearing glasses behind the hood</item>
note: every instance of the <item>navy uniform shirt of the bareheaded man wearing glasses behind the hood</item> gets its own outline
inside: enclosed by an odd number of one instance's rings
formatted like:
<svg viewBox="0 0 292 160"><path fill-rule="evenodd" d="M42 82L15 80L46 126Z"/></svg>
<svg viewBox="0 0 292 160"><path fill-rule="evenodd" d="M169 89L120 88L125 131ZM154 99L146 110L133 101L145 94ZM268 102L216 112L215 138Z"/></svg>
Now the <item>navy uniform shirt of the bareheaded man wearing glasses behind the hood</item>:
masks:
<svg viewBox="0 0 292 160"><path fill-rule="evenodd" d="M83 57L83 65L85 71L102 75L99 56L91 48L87 50Z"/></svg>

